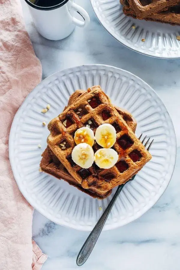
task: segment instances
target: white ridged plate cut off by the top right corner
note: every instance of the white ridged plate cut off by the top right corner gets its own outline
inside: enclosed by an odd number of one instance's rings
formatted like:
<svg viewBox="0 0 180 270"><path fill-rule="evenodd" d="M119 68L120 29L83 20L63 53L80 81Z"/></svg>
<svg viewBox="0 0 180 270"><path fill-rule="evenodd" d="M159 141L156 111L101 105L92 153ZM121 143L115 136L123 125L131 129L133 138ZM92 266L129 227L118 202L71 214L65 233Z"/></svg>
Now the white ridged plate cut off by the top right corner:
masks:
<svg viewBox="0 0 180 270"><path fill-rule="evenodd" d="M127 17L119 0L90 1L104 28L128 48L159 58L180 57L180 41L176 39L180 35L180 26ZM142 42L142 38L146 41Z"/></svg>

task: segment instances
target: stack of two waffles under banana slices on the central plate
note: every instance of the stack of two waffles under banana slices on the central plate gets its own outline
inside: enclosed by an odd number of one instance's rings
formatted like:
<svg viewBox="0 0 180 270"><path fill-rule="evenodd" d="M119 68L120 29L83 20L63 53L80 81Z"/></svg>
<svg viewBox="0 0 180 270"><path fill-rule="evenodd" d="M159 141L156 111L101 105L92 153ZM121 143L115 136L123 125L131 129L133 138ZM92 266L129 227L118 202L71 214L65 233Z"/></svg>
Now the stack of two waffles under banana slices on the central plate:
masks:
<svg viewBox="0 0 180 270"><path fill-rule="evenodd" d="M79 167L71 157L76 145L75 131L88 125L95 134L104 123L116 129L113 149L119 155L118 162L110 169L101 169L95 163L88 169ZM48 125L50 135L42 154L41 170L64 179L92 197L103 199L110 195L113 187L127 182L151 159L134 135L136 125L129 112L111 104L100 86L77 90L70 96L64 111ZM100 148L97 143L93 146L94 152Z"/></svg>

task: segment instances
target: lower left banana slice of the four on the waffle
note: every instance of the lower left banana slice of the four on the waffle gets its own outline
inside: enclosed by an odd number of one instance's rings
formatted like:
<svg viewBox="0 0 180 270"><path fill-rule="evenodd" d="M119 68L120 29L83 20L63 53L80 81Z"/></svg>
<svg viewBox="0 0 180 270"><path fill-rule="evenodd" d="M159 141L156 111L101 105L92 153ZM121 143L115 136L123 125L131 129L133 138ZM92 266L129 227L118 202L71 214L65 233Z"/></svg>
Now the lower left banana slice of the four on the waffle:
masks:
<svg viewBox="0 0 180 270"><path fill-rule="evenodd" d="M79 143L73 148L72 160L81 168L88 169L94 162L94 151L87 143Z"/></svg>

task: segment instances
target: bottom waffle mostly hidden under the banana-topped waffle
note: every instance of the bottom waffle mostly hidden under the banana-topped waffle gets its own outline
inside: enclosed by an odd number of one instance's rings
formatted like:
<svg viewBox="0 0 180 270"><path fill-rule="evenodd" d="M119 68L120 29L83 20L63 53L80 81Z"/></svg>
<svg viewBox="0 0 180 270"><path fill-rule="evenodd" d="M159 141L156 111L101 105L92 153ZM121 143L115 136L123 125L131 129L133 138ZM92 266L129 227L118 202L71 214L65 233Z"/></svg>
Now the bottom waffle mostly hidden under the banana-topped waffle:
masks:
<svg viewBox="0 0 180 270"><path fill-rule="evenodd" d="M83 91L83 90L77 90L77 91L75 91L70 96L67 107L70 106L71 104L73 104L77 100L77 98L79 98L79 96L81 96L84 93L85 93L85 91ZM67 107L65 107L65 109ZM137 126L137 122L133 118L133 116L131 115L131 113L129 113L128 111L123 110L123 109L121 109L119 107L116 107L116 110L122 116L122 118L125 120L125 122L127 123L127 125L132 129L132 131L135 132L136 126ZM44 171L45 173L48 173L48 174L50 174L52 176L55 176L58 179L64 179L70 185L73 185L73 186L77 187L79 190L87 193L88 195L90 195L90 196L92 196L94 198L104 199L107 196L109 196L111 194L111 192L112 192L112 190L109 190L108 192L105 192L104 193L101 190L95 189L95 188L94 189L84 189L76 181L76 179L74 179L70 175L70 173L68 173L68 171L66 170L66 168L64 167L64 165L58 160L58 158L56 158L56 156L51 151L51 149L49 148L49 146L47 146L47 148L44 150L44 152L42 154L42 160L41 160L40 167L41 167L41 170Z"/></svg>

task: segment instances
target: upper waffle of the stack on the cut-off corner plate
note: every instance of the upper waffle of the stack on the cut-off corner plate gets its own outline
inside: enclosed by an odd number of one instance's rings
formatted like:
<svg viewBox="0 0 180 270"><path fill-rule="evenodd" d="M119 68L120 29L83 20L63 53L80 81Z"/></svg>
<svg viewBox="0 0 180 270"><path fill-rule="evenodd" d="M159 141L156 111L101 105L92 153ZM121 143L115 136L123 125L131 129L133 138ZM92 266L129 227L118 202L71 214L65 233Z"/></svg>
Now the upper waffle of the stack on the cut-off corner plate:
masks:
<svg viewBox="0 0 180 270"><path fill-rule="evenodd" d="M169 7L178 5L180 0L128 0L128 3L131 9L134 10L137 19L144 19L149 15L154 15L162 10L167 10Z"/></svg>

